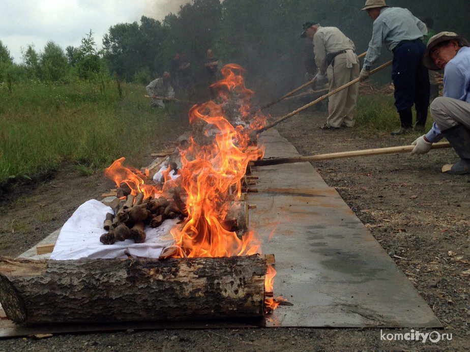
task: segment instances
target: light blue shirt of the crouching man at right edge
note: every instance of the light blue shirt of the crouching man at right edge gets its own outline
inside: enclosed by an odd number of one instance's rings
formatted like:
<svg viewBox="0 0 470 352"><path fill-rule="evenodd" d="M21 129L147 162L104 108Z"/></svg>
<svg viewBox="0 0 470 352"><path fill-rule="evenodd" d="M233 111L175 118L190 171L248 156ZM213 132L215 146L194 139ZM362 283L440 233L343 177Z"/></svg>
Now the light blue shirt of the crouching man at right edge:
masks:
<svg viewBox="0 0 470 352"><path fill-rule="evenodd" d="M470 47L460 48L444 68L443 96L470 103ZM426 134L426 139L432 143L443 137L436 123L432 124L431 130Z"/></svg>

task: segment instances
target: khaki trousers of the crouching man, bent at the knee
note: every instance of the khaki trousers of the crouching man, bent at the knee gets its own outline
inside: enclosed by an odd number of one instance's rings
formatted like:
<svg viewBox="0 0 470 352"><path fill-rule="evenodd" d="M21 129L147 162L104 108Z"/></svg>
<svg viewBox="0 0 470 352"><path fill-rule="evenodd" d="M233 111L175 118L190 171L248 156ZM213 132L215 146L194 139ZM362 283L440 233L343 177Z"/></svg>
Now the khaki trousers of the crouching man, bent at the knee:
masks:
<svg viewBox="0 0 470 352"><path fill-rule="evenodd" d="M470 103L462 100L438 97L430 107L431 116L441 131L446 131L458 124L470 129Z"/></svg>

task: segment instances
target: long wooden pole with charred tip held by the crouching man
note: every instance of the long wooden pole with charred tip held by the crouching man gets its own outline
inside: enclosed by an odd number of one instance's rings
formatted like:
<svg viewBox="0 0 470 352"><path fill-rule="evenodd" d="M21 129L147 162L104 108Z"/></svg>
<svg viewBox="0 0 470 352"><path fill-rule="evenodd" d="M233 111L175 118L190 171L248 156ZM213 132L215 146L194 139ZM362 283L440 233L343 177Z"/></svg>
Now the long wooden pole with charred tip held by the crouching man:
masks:
<svg viewBox="0 0 470 352"><path fill-rule="evenodd" d="M449 142L433 143L431 149L443 149L451 148ZM279 164L291 164L301 163L310 161L321 161L321 160L333 160L333 159L344 159L344 158L355 158L355 157L366 157L371 155L383 155L383 154L394 154L394 153L408 153L415 148L414 145L402 145L402 146L391 146L388 148L377 148L377 149L365 149L359 151L350 152L339 152L339 153L328 153L328 154L317 154L308 155L304 157L292 157L292 158L273 158L273 159L261 159L250 162L250 166L269 166Z"/></svg>

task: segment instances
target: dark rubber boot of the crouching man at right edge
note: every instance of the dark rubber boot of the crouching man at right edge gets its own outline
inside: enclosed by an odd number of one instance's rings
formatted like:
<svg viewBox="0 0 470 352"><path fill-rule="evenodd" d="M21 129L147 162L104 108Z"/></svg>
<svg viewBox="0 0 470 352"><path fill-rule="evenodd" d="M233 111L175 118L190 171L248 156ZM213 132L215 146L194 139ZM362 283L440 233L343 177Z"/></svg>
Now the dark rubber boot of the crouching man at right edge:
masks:
<svg viewBox="0 0 470 352"><path fill-rule="evenodd" d="M457 152L460 160L447 173L463 175L470 173L470 130L463 125L454 126L442 134Z"/></svg>

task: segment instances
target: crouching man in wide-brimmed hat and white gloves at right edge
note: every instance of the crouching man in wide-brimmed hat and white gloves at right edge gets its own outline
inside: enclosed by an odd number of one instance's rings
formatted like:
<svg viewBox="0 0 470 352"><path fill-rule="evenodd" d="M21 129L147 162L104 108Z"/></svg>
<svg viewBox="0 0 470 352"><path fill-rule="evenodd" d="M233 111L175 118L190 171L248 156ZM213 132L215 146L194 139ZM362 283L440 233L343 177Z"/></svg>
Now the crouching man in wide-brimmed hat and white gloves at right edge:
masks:
<svg viewBox="0 0 470 352"><path fill-rule="evenodd" d="M423 64L430 70L444 69L443 97L431 103L434 124L416 139L412 155L426 154L443 137L451 143L460 160L447 171L470 173L470 43L452 32L429 39Z"/></svg>

